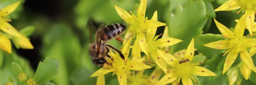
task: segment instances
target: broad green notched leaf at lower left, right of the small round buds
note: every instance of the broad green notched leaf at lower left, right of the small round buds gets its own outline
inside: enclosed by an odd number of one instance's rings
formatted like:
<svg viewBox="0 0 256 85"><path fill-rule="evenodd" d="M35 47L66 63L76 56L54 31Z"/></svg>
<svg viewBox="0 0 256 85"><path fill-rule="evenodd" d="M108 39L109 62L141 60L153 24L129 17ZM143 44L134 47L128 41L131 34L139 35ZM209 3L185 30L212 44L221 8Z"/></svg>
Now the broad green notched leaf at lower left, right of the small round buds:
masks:
<svg viewBox="0 0 256 85"><path fill-rule="evenodd" d="M37 71L33 78L39 85L43 85L48 81L52 80L59 71L59 60L50 59L46 57L45 60L39 63Z"/></svg>

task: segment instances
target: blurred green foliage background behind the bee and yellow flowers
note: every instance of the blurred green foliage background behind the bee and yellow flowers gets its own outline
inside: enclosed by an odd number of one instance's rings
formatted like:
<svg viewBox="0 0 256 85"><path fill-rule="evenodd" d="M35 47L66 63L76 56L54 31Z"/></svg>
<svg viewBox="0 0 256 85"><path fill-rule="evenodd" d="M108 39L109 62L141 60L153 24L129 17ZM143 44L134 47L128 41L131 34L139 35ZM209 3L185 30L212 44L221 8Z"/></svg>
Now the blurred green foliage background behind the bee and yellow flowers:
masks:
<svg viewBox="0 0 256 85"><path fill-rule="evenodd" d="M1 0L0 8L16 1L18 0ZM243 14L237 14L237 10L213 11L225 1L227 0L148 0L147 2L145 15L150 19L157 10L158 21L165 22L169 26L170 37L184 41L171 46L171 53L185 49L194 36L198 52L204 53L208 60L212 59L213 62L206 62L204 66L219 76L199 77L203 85L217 83L228 85L226 75L220 72L223 68L221 62L225 59L218 54L220 50L203 47L204 43L223 39L218 35L206 34L220 34L213 18L228 28L234 28L235 19L239 19ZM29 37L34 49L16 49L12 46L12 54L1 52L3 55L1 84L6 83L8 75L12 74L11 62L19 63L23 69L26 69L25 72L33 74L39 61L50 57L60 61L59 73L52 80L56 85L94 85L97 77L89 78L89 76L100 67L93 65L88 55L89 32L86 24L89 18L92 18L96 27L99 24L122 23L123 20L113 5L126 11L133 11L139 6L139 0L21 0L19 7L10 15L12 20L10 24L17 30L29 25L35 26L35 32ZM164 26L159 27L156 34L163 33L163 29ZM246 30L245 35L247 33ZM108 43L116 48L122 45L116 40ZM240 60L237 59L236 62L238 64ZM152 70L145 73L150 74ZM252 75L256 75L255 72L252 72ZM107 74L105 79L108 85L118 85L116 75ZM253 82L255 83L253 80L247 80L243 84L253 84Z"/></svg>

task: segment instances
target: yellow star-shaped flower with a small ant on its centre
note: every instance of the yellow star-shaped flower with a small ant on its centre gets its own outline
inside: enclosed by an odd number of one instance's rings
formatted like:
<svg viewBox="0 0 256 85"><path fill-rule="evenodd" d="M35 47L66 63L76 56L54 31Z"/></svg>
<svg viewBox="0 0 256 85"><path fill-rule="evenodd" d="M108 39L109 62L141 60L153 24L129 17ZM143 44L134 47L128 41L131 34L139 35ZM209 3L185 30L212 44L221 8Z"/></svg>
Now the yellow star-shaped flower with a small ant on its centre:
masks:
<svg viewBox="0 0 256 85"><path fill-rule="evenodd" d="M194 76L216 76L214 72L211 72L204 67L197 66L200 63L191 63L195 53L194 38L191 40L184 57L181 60L176 59L169 53L165 53L163 51L158 52L173 68L171 68L169 73L159 80L157 85L168 83L176 85L180 82L180 80L182 80L183 85L193 85L192 80L197 83Z"/></svg>

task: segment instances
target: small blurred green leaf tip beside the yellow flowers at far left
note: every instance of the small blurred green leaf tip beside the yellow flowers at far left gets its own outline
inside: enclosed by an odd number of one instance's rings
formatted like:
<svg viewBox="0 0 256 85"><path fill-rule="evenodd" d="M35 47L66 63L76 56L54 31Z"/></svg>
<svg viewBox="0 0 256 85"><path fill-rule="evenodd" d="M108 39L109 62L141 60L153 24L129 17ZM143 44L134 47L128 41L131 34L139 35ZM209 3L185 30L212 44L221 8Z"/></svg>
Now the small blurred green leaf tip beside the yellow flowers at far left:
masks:
<svg viewBox="0 0 256 85"><path fill-rule="evenodd" d="M35 26L32 26L32 25L19 30L19 32L26 37L31 36L31 34L33 34L34 31L35 31Z"/></svg>

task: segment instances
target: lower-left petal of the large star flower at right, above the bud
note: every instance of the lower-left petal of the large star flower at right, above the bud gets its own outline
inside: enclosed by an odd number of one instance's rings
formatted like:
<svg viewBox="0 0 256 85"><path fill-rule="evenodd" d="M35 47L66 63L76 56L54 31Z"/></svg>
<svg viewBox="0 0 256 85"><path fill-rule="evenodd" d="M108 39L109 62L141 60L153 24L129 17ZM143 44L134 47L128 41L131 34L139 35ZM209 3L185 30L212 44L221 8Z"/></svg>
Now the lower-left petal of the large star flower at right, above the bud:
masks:
<svg viewBox="0 0 256 85"><path fill-rule="evenodd" d="M234 63L235 59L237 58L238 53L229 52L225 59L224 67L223 67L223 74L231 67Z"/></svg>

